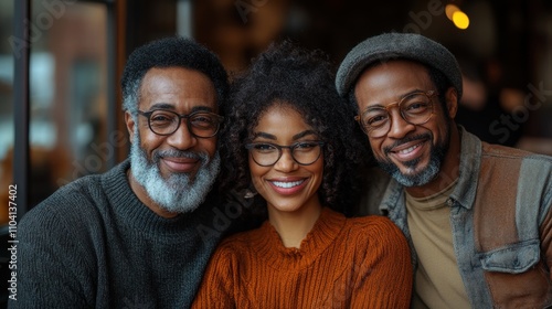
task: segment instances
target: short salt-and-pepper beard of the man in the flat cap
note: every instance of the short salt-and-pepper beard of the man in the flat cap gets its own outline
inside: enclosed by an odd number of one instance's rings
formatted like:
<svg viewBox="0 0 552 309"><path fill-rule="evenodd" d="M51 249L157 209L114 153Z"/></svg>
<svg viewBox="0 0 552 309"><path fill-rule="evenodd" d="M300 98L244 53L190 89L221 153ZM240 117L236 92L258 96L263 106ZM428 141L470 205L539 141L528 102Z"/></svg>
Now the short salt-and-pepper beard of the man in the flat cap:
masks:
<svg viewBox="0 0 552 309"><path fill-rule="evenodd" d="M433 140L432 136L429 136L428 138L429 140ZM413 140L413 138L410 138L408 140ZM401 142L406 142L408 140L403 140ZM447 132L444 142L437 143L432 147L432 151L429 154L429 162L427 167L425 167L425 169L415 174L403 174L399 169L399 167L390 160L381 160L376 158L376 161L385 172L391 174L391 177L393 177L393 179L395 179L396 182L401 183L402 185L404 187L424 185L429 183L429 181L435 179L435 177L439 173L440 164L443 163L443 159L445 158L445 154L448 150L449 146L448 140L449 140L449 132ZM414 169L420 160L416 159L405 162L404 166Z"/></svg>

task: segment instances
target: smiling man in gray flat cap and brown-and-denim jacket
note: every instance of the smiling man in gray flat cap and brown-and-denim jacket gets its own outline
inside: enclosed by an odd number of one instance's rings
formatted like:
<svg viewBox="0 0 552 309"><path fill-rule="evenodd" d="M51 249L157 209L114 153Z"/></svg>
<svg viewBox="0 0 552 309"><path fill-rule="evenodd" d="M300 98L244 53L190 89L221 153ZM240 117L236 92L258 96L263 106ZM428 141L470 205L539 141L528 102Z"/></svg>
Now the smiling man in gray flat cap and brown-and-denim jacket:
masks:
<svg viewBox="0 0 552 309"><path fill-rule="evenodd" d="M455 56L420 34L381 34L351 50L336 86L391 175L370 183L362 207L407 237L412 307L552 306L552 158L456 125Z"/></svg>

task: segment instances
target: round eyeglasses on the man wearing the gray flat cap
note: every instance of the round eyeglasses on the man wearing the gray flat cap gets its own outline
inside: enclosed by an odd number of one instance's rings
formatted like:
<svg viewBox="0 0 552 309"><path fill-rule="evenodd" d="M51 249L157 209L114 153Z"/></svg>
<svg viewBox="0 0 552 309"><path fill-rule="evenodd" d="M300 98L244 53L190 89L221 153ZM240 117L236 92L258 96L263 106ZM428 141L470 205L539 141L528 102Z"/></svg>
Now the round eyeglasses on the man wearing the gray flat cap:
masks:
<svg viewBox="0 0 552 309"><path fill-rule="evenodd" d="M391 129L391 114L389 110L396 105L401 117L411 125L423 125L433 116L432 97L437 95L435 90L416 92L408 94L399 102L385 107L370 107L362 115L354 116L362 130L373 138L382 137Z"/></svg>

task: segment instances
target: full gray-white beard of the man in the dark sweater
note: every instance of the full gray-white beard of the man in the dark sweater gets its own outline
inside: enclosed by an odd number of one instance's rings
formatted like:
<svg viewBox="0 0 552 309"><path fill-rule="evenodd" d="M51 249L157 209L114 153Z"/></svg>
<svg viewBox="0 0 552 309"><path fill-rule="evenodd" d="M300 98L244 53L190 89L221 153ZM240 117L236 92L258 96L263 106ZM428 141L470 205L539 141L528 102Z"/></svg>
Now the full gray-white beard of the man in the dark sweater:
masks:
<svg viewBox="0 0 552 309"><path fill-rule="evenodd" d="M140 148L140 137L135 130L130 145L130 168L136 181L146 190L149 198L162 210L171 213L187 213L198 209L211 191L221 166L219 151L210 160L208 153L180 150L157 150L151 161ZM159 171L162 157L194 158L201 160L201 167L193 180L185 173L173 173L164 179Z"/></svg>

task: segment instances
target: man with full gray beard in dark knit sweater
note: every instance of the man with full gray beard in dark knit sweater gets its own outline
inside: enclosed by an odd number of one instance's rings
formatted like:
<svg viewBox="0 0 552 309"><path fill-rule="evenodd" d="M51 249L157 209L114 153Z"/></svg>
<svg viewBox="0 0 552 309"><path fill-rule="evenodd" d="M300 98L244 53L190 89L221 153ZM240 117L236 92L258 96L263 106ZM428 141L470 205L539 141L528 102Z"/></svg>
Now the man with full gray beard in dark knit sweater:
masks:
<svg viewBox="0 0 552 309"><path fill-rule="evenodd" d="M227 76L182 38L137 49L121 79L129 159L83 177L19 224L11 308L188 308L225 228L211 189ZM202 227L213 227L205 235ZM230 225L230 224L227 224Z"/></svg>

